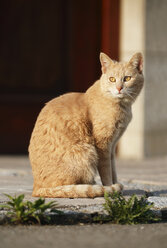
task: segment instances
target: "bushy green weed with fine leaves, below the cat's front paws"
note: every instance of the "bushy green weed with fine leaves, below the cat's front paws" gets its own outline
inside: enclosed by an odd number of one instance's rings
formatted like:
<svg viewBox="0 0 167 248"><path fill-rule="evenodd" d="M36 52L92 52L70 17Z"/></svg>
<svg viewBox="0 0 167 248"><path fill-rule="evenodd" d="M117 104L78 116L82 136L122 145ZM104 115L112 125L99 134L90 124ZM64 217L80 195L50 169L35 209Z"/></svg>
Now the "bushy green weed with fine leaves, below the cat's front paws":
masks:
<svg viewBox="0 0 167 248"><path fill-rule="evenodd" d="M153 204L148 203L145 197L138 199L133 195L126 200L121 193L114 192L113 194L105 193L104 198L104 209L107 215L96 217L98 221L110 221L114 224L144 224L160 220L150 210Z"/></svg>

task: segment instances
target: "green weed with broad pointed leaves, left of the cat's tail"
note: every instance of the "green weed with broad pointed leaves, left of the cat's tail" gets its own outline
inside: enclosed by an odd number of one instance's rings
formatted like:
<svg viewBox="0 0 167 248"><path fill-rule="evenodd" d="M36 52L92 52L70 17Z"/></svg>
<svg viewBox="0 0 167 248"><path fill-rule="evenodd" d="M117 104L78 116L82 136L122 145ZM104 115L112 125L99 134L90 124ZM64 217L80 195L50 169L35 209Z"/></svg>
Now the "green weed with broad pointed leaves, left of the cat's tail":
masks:
<svg viewBox="0 0 167 248"><path fill-rule="evenodd" d="M9 201L0 207L8 209L7 217L8 222L13 224L48 224L50 216L46 214L46 210L51 210L56 213L57 204L53 201L45 203L45 199L39 198L38 200L23 201L24 195L12 197L5 194Z"/></svg>

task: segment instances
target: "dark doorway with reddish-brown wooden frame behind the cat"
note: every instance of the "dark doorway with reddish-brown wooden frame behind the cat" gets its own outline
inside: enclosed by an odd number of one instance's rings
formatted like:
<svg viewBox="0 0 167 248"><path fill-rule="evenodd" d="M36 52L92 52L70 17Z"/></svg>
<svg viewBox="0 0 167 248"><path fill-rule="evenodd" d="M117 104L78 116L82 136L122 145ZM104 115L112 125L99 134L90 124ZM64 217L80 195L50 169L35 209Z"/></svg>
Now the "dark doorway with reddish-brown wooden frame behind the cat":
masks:
<svg viewBox="0 0 167 248"><path fill-rule="evenodd" d="M98 79L100 51L118 59L119 1L3 0L0 18L0 153L26 153L44 104Z"/></svg>

